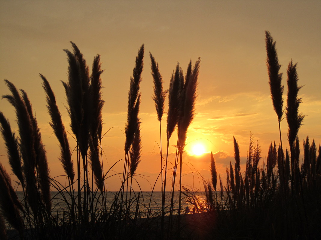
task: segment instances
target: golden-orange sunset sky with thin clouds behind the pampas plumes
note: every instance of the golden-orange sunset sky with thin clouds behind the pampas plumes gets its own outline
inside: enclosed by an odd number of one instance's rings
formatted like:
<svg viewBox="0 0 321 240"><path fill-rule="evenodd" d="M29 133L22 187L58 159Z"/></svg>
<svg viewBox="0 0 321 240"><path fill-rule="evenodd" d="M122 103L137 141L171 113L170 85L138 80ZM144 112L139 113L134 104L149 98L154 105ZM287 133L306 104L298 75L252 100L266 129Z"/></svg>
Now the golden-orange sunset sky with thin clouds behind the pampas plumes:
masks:
<svg viewBox="0 0 321 240"><path fill-rule="evenodd" d="M73 41L91 64L101 55L103 81L104 169L124 158L123 134L126 122L130 76L138 49L145 44L142 74L142 162L136 179L150 191L160 172L157 121L149 52L159 63L164 88L180 63L186 72L190 60L201 58L196 115L188 129L183 156L182 185L199 189L200 173L210 177L210 152L225 182L226 166L234 164L233 136L245 164L249 136L253 133L262 147L261 162L275 140L279 144L277 116L270 98L265 64L265 30L277 42L277 52L284 85L286 106L286 68L298 62L299 112L305 116L299 130L301 154L303 140L321 143L321 1L4 1L0 0L0 95L10 94L4 79L28 93L46 145L51 177L63 175L58 160L59 146L48 124L45 92L39 73L47 77L57 99L65 126L69 116L65 109L67 59L63 49L71 50ZM166 100L167 110L168 100ZM0 100L0 111L18 130L13 107ZM285 116L285 115L284 115ZM288 147L286 119L281 122L282 142ZM18 132L17 132L18 134ZM162 121L163 143L166 141L166 115ZM174 132L171 145L176 144ZM75 147L72 136L70 145ZM193 156L195 144L204 146L206 154ZM163 152L166 146L163 145ZM169 161L175 148L171 147ZM75 161L75 156L73 157ZM0 162L11 172L4 142L0 140ZM242 168L243 167L243 168ZM122 172L123 161L108 176ZM245 166L241 165L241 170ZM171 170L169 171L169 174ZM141 175L139 175L141 174ZM194 177L194 181L193 181ZM11 176L15 180L14 176ZM64 184L64 177L58 178ZM119 177L109 177L108 190L119 189ZM160 183L156 185L160 190Z"/></svg>

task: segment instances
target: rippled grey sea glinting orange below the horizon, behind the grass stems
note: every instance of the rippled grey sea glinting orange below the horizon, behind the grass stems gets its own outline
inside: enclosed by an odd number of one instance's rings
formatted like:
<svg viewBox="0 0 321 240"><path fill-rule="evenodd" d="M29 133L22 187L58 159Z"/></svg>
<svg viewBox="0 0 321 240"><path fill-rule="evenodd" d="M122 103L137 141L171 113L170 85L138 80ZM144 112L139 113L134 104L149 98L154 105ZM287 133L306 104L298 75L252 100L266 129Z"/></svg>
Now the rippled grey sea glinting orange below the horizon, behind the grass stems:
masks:
<svg viewBox="0 0 321 240"><path fill-rule="evenodd" d="M17 196L19 200L21 201L22 205L25 206L26 202L24 200L23 192L17 191ZM103 203L102 196L100 193L94 193L93 195L89 194L91 196L91 199L89 201L90 204L92 204L93 209L95 209L96 212L101 211L106 205L107 212L113 211L112 206L117 203L120 204L121 195L119 192L109 192L106 191L103 193L105 195L106 203ZM189 194L190 196L191 194ZM186 210L193 212L193 207L197 205L198 207L202 204L204 205L205 200L205 192L196 192L193 194L194 197L187 197L184 194L181 194L181 213L187 213ZM93 196L93 197L92 197ZM75 203L78 204L77 194L75 193L76 198ZM172 198L171 192L166 192L165 196L165 215L169 215L169 209L170 209L170 202ZM72 211L72 195L68 191L64 192L51 192L51 199L52 199L52 210L51 210L51 217L57 219L59 222L59 219L64 218L65 216L69 215ZM81 196L81 199L83 200L83 193ZM116 199L116 200L115 200ZM126 192L123 196L124 202L127 202L127 206L129 206L129 212L131 216L138 218L146 218L146 217L156 217L161 214L161 192ZM126 201L127 199L127 201ZM174 209L174 215L178 213L178 199L179 199L179 192L174 192L173 195L173 209ZM24 221L24 224L27 228L32 228L33 223L28 221L26 216L23 216L22 218ZM31 213L32 215L32 213ZM5 220L5 225L7 230L12 229L10 224Z"/></svg>

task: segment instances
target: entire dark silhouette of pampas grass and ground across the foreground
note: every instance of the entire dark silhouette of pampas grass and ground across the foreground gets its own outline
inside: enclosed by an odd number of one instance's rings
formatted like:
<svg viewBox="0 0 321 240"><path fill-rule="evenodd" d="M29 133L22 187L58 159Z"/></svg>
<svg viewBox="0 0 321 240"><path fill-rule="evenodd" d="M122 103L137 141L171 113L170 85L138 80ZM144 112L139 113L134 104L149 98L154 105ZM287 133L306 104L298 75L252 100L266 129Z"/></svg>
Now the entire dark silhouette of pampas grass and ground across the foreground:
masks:
<svg viewBox="0 0 321 240"><path fill-rule="evenodd" d="M59 142L59 160L68 180L67 186L49 175L46 151L27 93L19 92L5 80L11 95L3 98L15 108L18 136L2 112L0 130L23 198L18 199L9 175L0 164L1 239L317 239L320 236L321 145L317 148L314 140L310 144L309 137L303 140L304 158L300 161L298 131L304 115L299 114L301 87L298 86L297 64L291 60L288 65L284 110L281 65L276 43L269 32L265 32L266 65L280 144L271 142L266 163L261 164L261 146L250 134L246 167L241 169L239 144L233 137L235 163L230 162L226 168L226 184L217 172L211 152L211 180L203 179L204 194L181 185L187 131L195 116L200 59L194 67L192 61L189 62L185 76L178 63L167 91L163 89L159 65L150 53L154 82L152 99L160 133L168 93L166 157L162 153L160 135L160 174L154 183L154 187L159 181L161 185L161 202L156 211L151 207L153 195L146 196L132 188L133 181L139 186L135 172L142 160L139 84L144 45L138 51L130 78L125 158L114 164L124 164L123 172L117 173L122 184L110 202L105 180L113 175L114 165L104 169L103 164L104 100L100 55L94 57L90 73L82 53L74 43L71 44L72 52L64 50L68 59L68 81L62 84L75 140L72 144L67 138L55 94L46 77L40 74L47 96L49 124ZM285 151L280 125L284 111L289 141L289 149ZM169 140L175 129L176 154L175 159L169 159ZM76 161L73 162L74 157ZM91 181L89 176L92 176ZM176 186L178 194L175 194ZM50 192L50 188L55 192ZM64 204L63 211L56 200ZM181 215L185 204L193 206L193 214Z"/></svg>

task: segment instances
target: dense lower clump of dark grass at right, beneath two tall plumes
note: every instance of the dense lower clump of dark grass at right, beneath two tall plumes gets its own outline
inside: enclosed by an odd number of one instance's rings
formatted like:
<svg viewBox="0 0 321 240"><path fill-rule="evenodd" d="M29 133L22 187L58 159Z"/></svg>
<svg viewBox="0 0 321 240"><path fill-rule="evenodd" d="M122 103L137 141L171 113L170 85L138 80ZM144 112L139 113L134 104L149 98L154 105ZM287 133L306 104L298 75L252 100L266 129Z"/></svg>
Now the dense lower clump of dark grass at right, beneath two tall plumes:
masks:
<svg viewBox="0 0 321 240"><path fill-rule="evenodd" d="M219 177L223 189L219 193L216 181L213 180L217 172L211 155L212 181L204 180L206 204L195 203L195 196L189 194L190 199L193 199L189 202L197 205L200 212L205 212L204 228L208 229L206 236L215 239L317 239L320 234L317 226L321 222L321 196L316 190L321 180L316 171L320 152L317 156L315 144L310 144L308 138L304 141L304 149L305 158L298 175L300 182L295 196L291 191L281 188L284 184L280 182L280 171L275 170L277 159L280 161L284 157L281 147L276 150L276 146L271 144L267 164L256 165L261 158L260 146L254 143L251 135L245 172L238 174L237 166L233 169L230 163L226 169L225 187ZM289 172L288 152L285 159L288 163L285 172ZM290 172L288 176L291 176ZM291 190L292 180L289 177L286 189Z"/></svg>

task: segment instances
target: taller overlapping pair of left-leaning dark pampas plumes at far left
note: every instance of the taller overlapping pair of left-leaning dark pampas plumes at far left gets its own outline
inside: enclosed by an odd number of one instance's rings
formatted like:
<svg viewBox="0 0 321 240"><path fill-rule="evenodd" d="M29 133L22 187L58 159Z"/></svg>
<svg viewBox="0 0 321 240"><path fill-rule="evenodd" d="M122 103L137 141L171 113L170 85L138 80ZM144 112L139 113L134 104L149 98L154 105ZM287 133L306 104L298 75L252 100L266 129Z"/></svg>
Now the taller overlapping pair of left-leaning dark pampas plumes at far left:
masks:
<svg viewBox="0 0 321 240"><path fill-rule="evenodd" d="M33 116L32 107L26 92L21 90L20 94L11 82L5 80L5 83L12 95L5 95L3 98L7 99L15 108L19 128L20 142L18 151L23 162L22 186L24 187L23 190L26 194L25 197L28 201L28 206L30 206L32 210L32 214L27 215L27 221L32 225L38 226L41 225L43 221L48 220L51 212L51 179L49 177L46 151L41 140L37 120ZM3 128L5 128L4 125ZM5 138L4 140L7 142L7 146L10 145L9 139ZM9 159L17 157L16 149L14 152L8 151ZM16 165L19 165L19 157L14 161ZM19 174L20 172L18 175ZM27 202L25 204L27 204Z"/></svg>

